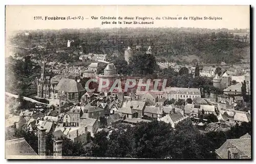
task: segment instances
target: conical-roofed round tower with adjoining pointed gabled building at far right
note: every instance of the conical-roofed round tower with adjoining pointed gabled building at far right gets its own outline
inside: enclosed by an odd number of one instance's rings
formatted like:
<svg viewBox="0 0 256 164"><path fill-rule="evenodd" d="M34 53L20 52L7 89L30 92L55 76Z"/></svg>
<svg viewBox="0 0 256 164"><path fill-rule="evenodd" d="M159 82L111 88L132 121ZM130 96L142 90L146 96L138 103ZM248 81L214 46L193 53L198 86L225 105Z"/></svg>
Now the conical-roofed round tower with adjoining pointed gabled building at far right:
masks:
<svg viewBox="0 0 256 164"><path fill-rule="evenodd" d="M221 77L216 74L213 79L214 87L219 89L225 89L230 86L231 77L225 72Z"/></svg>

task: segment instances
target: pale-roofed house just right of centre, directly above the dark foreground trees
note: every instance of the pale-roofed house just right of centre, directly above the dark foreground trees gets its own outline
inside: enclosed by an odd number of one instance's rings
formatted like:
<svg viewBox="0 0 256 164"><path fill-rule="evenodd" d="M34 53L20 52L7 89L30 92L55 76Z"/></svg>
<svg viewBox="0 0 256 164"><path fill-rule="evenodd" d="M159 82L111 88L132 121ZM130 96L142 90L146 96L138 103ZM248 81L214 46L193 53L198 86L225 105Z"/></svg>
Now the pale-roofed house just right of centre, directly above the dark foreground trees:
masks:
<svg viewBox="0 0 256 164"><path fill-rule="evenodd" d="M162 118L164 116L163 107L156 106L145 106L144 116L152 118Z"/></svg>

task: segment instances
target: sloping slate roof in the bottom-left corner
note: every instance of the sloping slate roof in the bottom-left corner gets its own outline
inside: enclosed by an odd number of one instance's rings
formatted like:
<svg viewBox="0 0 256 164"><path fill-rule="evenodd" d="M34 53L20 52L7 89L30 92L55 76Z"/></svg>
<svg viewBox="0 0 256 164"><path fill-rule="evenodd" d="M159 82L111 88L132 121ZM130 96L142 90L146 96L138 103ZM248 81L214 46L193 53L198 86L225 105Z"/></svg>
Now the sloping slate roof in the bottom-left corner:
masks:
<svg viewBox="0 0 256 164"><path fill-rule="evenodd" d="M5 153L8 155L37 155L24 138L5 141Z"/></svg>

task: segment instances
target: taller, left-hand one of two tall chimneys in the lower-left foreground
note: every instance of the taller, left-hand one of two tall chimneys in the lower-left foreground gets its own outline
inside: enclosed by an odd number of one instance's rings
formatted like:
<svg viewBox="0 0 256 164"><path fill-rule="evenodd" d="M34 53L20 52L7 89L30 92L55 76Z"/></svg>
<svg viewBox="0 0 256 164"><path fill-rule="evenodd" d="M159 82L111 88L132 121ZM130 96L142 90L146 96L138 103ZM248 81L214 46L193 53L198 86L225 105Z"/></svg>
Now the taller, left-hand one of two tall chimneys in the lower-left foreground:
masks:
<svg viewBox="0 0 256 164"><path fill-rule="evenodd" d="M46 128L40 126L38 128L38 155L46 155Z"/></svg>

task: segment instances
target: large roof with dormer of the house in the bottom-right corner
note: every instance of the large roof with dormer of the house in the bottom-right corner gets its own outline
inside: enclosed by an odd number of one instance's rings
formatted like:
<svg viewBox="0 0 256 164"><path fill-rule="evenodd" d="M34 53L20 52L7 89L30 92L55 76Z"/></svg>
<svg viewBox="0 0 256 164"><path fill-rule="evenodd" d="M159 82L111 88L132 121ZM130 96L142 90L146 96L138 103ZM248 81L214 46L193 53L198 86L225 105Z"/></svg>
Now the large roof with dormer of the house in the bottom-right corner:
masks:
<svg viewBox="0 0 256 164"><path fill-rule="evenodd" d="M215 153L217 159L250 159L251 138L229 139Z"/></svg>

